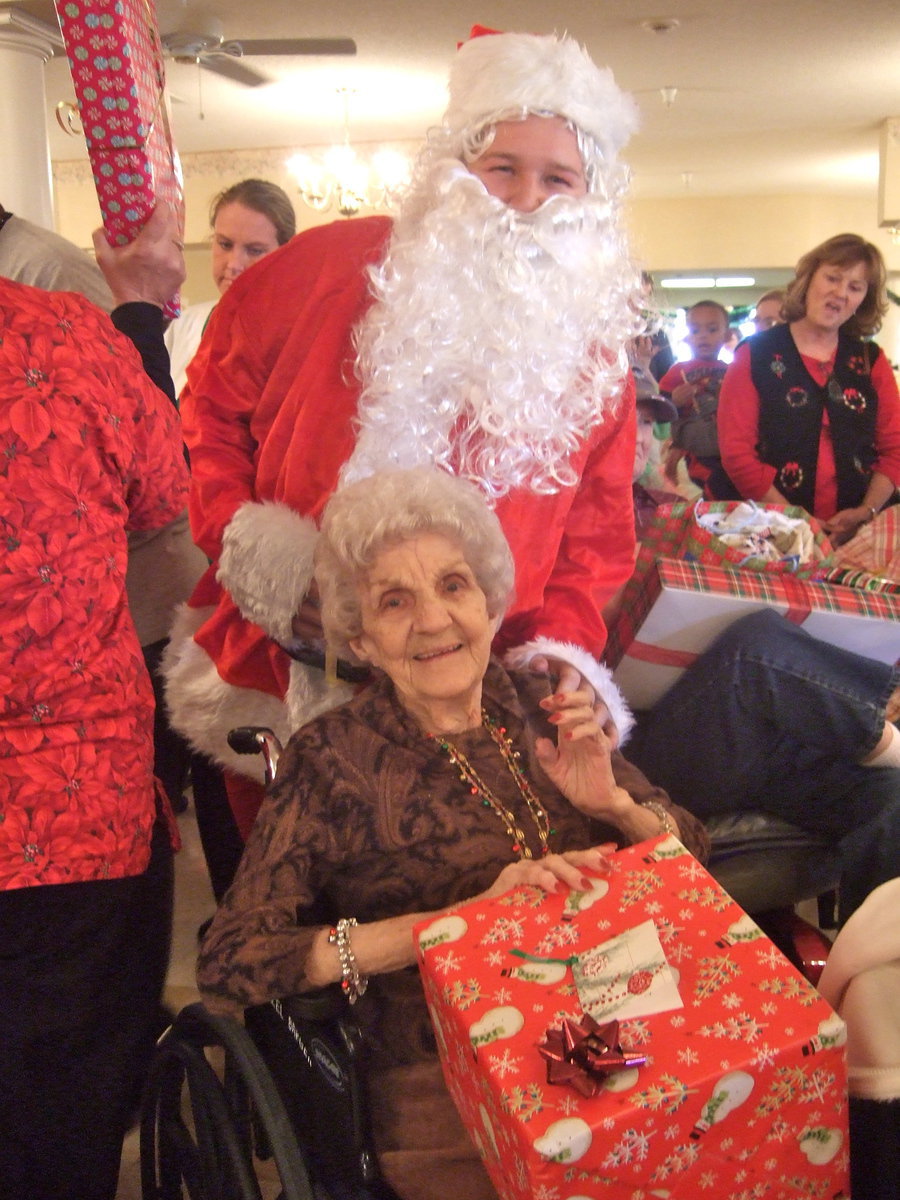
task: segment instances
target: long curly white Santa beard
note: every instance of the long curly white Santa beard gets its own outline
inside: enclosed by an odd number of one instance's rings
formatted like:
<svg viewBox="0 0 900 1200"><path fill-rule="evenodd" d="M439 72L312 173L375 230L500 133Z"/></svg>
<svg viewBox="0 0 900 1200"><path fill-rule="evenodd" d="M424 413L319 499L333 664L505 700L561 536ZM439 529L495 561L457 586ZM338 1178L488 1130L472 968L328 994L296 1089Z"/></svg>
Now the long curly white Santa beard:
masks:
<svg viewBox="0 0 900 1200"><path fill-rule="evenodd" d="M342 482L434 463L492 498L571 486L569 460L616 403L637 331L616 206L559 197L520 214L458 162L439 163L430 190L373 270Z"/></svg>

